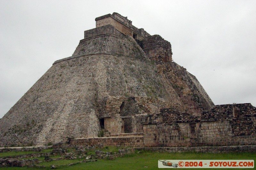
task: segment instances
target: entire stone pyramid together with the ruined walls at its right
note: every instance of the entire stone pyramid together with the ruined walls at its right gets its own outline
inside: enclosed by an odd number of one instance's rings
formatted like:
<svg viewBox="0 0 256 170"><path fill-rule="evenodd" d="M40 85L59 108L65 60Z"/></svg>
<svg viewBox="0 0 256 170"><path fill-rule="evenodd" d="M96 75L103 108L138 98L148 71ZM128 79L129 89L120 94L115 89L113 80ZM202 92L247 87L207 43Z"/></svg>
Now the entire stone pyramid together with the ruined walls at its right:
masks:
<svg viewBox="0 0 256 170"><path fill-rule="evenodd" d="M0 146L256 144L250 103L215 106L170 42L118 13L95 21L0 119Z"/></svg>

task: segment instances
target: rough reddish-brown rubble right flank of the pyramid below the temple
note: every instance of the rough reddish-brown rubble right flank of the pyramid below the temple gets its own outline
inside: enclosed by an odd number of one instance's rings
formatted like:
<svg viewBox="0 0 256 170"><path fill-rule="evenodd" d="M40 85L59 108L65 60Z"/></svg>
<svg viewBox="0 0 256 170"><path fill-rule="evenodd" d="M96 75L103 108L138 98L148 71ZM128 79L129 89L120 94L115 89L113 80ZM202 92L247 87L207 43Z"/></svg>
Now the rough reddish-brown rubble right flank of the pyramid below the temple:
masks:
<svg viewBox="0 0 256 170"><path fill-rule="evenodd" d="M180 112L188 111L192 115L201 115L203 111L209 111L214 107L198 80L183 67L174 62L157 62L157 68L158 73L165 80L163 85L171 92L169 96L171 103L168 107L176 108ZM173 100L174 95L178 96L176 99L179 100Z"/></svg>

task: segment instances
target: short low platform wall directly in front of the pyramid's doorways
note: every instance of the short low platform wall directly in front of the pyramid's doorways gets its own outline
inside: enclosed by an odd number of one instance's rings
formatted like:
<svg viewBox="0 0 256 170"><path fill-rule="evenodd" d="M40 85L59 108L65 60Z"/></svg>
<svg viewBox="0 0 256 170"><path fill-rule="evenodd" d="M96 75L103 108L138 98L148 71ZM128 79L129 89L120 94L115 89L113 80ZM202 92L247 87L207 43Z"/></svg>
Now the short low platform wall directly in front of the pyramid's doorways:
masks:
<svg viewBox="0 0 256 170"><path fill-rule="evenodd" d="M94 137L94 138L77 138L71 139L70 145L107 145L107 146L143 146L143 137Z"/></svg>

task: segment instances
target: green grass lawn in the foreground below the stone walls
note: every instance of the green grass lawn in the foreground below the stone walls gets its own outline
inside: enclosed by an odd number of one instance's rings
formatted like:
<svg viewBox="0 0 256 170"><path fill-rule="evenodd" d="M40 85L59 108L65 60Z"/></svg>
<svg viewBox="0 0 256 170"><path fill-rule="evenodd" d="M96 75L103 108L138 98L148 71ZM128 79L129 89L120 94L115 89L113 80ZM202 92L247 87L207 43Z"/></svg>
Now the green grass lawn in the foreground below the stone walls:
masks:
<svg viewBox="0 0 256 170"><path fill-rule="evenodd" d="M255 159L256 153L156 153L156 152L141 152L125 155L122 158L115 158L114 160L98 159L97 162L81 163L74 166L64 166L60 169L158 169L159 159ZM47 166L50 169L51 165L65 165L69 163L76 163L82 159L74 160L59 160L52 162L40 163L40 165ZM27 167L2 167L1 169L33 169ZM35 168L34 168L35 169ZM210 168L207 168L210 169ZM215 169L216 168L212 168ZM255 168L254 168L255 169Z"/></svg>

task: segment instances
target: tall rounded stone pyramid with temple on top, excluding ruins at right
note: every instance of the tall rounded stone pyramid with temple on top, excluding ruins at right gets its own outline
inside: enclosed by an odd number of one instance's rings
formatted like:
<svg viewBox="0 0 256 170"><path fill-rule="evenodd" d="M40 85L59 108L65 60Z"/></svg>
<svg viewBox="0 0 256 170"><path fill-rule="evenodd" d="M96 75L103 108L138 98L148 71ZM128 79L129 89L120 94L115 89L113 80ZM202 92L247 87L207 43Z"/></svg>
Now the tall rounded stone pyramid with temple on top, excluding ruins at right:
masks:
<svg viewBox="0 0 256 170"><path fill-rule="evenodd" d="M74 54L52 67L0 119L0 146L142 132L162 108L190 115L214 104L195 76L172 61L170 42L118 13L98 17Z"/></svg>

